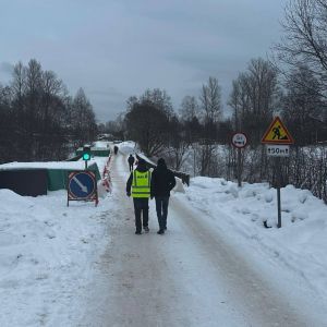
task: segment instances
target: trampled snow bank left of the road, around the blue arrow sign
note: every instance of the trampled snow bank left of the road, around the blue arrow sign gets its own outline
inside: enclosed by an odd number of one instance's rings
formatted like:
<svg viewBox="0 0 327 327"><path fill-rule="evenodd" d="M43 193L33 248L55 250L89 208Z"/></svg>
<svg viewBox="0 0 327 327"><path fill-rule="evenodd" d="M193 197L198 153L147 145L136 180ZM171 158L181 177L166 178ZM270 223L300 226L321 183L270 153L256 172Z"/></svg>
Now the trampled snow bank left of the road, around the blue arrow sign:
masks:
<svg viewBox="0 0 327 327"><path fill-rule="evenodd" d="M95 159L100 169L108 160ZM28 197L2 189L0 198L0 326L75 326L114 202L68 207L64 190Z"/></svg>

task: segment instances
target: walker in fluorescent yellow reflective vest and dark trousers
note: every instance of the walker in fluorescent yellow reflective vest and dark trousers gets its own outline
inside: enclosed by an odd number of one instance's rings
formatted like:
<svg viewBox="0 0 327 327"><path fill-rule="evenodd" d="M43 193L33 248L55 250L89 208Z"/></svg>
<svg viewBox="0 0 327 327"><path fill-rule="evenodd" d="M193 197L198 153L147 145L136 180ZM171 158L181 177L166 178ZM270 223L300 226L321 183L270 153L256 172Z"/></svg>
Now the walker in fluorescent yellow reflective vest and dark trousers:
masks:
<svg viewBox="0 0 327 327"><path fill-rule="evenodd" d="M145 160L140 159L137 167L131 172L126 183L126 195L132 195L134 203L135 234L142 234L142 227L146 233L149 231L148 199L150 197L150 182L152 172L146 167Z"/></svg>

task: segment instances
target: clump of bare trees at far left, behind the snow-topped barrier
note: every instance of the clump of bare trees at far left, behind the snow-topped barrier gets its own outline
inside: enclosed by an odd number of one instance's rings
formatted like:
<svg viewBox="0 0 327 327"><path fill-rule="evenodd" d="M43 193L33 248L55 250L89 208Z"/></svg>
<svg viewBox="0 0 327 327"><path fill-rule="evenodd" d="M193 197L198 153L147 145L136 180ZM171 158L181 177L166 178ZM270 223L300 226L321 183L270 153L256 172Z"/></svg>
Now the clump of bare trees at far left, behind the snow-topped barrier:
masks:
<svg viewBox="0 0 327 327"><path fill-rule="evenodd" d="M37 60L29 60L27 66L19 62L9 86L0 87L1 141L5 154L0 152L0 160L66 158L80 123L78 110L84 114L80 135L94 140L97 125L85 94L78 93L73 99L56 73L44 71Z"/></svg>

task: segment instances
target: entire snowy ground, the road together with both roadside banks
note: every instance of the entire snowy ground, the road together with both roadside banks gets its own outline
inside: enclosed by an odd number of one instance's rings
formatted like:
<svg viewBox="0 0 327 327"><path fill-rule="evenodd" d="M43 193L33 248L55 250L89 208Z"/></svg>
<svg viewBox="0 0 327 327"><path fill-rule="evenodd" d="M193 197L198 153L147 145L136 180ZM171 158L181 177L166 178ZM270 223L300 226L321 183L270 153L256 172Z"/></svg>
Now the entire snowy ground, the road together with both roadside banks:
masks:
<svg viewBox="0 0 327 327"><path fill-rule="evenodd" d="M195 178L135 235L120 147L97 207L0 190L0 326L327 326L324 203L282 189L277 229L267 184Z"/></svg>

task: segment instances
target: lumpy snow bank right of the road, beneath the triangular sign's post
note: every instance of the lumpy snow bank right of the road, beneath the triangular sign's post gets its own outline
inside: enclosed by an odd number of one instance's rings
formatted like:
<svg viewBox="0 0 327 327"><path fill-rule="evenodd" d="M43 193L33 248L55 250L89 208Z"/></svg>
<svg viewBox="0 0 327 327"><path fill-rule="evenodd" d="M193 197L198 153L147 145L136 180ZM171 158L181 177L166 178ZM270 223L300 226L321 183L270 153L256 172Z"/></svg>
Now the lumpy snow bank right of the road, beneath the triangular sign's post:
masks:
<svg viewBox="0 0 327 327"><path fill-rule="evenodd" d="M250 244L327 298L327 206L310 191L281 189L280 229L277 191L267 183L244 183L239 189L225 179L197 177L185 194L175 196L204 213L203 219L214 221L232 242ZM271 228L265 228L265 221Z"/></svg>

